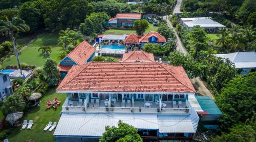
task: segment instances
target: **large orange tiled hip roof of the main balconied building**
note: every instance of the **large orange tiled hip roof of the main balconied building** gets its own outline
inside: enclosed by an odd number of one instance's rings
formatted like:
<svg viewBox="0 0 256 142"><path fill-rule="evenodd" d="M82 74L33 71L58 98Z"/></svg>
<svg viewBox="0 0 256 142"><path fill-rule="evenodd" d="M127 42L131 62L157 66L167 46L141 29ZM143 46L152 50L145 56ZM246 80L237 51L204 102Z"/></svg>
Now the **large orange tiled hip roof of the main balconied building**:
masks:
<svg viewBox="0 0 256 142"><path fill-rule="evenodd" d="M56 91L196 92L182 66L138 62L74 65Z"/></svg>

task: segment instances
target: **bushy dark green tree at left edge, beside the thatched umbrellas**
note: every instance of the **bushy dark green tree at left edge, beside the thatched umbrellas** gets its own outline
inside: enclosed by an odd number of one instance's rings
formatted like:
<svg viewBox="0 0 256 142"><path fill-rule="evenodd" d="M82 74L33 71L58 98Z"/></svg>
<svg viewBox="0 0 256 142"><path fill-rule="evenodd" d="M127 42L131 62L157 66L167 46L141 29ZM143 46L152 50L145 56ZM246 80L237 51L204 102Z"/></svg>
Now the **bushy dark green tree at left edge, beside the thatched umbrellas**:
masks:
<svg viewBox="0 0 256 142"><path fill-rule="evenodd" d="M2 104L1 110L5 115L25 109L25 101L21 95L14 94L7 97Z"/></svg>

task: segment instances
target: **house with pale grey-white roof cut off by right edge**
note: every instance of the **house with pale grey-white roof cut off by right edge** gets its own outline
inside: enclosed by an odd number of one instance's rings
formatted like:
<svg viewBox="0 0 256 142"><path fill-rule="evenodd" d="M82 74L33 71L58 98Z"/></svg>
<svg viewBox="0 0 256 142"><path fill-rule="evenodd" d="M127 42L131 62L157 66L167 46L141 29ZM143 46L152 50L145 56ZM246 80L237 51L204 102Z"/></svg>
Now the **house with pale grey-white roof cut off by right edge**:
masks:
<svg viewBox="0 0 256 142"><path fill-rule="evenodd" d="M237 69L242 69L242 75L256 71L256 52L254 51L216 54L216 56L229 59Z"/></svg>

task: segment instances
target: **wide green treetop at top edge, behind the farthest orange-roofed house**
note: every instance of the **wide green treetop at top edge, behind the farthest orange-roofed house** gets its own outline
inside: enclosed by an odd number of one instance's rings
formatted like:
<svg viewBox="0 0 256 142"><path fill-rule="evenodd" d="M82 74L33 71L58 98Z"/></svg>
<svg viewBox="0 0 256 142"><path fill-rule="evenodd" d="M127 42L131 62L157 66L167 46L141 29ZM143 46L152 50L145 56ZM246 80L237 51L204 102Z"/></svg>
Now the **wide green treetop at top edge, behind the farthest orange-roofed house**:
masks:
<svg viewBox="0 0 256 142"><path fill-rule="evenodd" d="M119 3L116 0L91 2L95 12L106 12L114 17L117 13L130 13L131 7L128 4Z"/></svg>

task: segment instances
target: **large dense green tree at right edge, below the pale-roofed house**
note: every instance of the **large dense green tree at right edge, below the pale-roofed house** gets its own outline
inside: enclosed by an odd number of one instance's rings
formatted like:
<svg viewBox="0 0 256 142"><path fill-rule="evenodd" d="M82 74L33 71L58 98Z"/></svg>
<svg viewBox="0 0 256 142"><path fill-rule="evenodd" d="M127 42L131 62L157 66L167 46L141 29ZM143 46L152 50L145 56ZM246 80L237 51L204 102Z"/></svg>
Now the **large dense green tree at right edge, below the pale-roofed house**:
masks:
<svg viewBox="0 0 256 142"><path fill-rule="evenodd" d="M224 76L224 74L222 74ZM221 109L221 129L251 119L256 109L256 72L238 76L224 85L216 103Z"/></svg>

